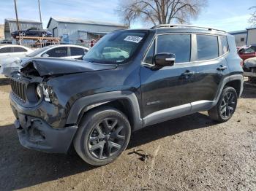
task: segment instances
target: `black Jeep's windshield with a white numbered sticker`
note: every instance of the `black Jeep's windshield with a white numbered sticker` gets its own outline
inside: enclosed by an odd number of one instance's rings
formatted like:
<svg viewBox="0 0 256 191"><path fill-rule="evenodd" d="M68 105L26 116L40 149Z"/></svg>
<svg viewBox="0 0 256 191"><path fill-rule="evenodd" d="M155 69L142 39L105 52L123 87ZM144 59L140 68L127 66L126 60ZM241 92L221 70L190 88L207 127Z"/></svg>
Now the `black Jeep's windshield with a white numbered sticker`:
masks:
<svg viewBox="0 0 256 191"><path fill-rule="evenodd" d="M124 63L143 42L145 32L117 31L104 36L83 56L84 61L96 63Z"/></svg>

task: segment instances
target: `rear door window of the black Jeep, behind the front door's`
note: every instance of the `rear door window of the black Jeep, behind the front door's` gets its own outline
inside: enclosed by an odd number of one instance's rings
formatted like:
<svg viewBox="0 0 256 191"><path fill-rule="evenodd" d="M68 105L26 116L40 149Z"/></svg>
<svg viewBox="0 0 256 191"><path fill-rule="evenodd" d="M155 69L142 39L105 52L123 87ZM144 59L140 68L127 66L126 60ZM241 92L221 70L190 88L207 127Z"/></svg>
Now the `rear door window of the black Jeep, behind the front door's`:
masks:
<svg viewBox="0 0 256 191"><path fill-rule="evenodd" d="M204 61L219 56L217 36L197 34L197 61Z"/></svg>

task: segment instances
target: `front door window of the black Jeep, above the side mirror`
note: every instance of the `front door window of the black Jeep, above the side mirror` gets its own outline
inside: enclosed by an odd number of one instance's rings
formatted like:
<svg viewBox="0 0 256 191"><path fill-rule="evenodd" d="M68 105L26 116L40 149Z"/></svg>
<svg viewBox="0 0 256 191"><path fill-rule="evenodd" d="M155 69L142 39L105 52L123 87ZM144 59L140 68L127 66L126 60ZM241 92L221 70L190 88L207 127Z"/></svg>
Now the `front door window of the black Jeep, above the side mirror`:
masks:
<svg viewBox="0 0 256 191"><path fill-rule="evenodd" d="M173 53L175 63L190 61L191 37L190 34L166 34L157 38L157 53Z"/></svg>

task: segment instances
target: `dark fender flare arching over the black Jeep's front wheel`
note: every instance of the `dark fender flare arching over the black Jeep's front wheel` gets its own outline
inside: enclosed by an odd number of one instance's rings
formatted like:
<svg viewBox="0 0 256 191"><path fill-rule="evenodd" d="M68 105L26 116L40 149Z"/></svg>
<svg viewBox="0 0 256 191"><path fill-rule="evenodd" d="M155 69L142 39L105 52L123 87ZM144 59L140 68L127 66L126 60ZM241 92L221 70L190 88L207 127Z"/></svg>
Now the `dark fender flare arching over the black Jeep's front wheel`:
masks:
<svg viewBox="0 0 256 191"><path fill-rule="evenodd" d="M140 117L140 106L138 103L138 98L135 93L129 90L120 90L106 93L97 93L94 95L88 95L82 98L78 98L74 104L72 104L71 109L67 117L67 124L78 124L79 117L84 112L93 109L96 106L106 104L110 101L116 101L118 99L126 99L129 101L132 110L133 119L133 130L138 130L142 128L143 121Z"/></svg>

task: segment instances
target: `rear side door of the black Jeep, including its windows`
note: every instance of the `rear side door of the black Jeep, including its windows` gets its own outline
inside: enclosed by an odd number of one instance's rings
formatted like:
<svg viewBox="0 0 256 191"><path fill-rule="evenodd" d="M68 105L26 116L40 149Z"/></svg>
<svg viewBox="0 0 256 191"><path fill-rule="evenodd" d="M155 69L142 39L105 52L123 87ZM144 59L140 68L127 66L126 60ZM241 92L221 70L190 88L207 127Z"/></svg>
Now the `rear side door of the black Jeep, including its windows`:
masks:
<svg viewBox="0 0 256 191"><path fill-rule="evenodd" d="M197 66L196 82L194 84L194 101L209 105L217 95L222 80L228 73L225 57L228 53L226 36L205 34L196 35L196 56L194 64ZM198 106L200 103L192 103Z"/></svg>

